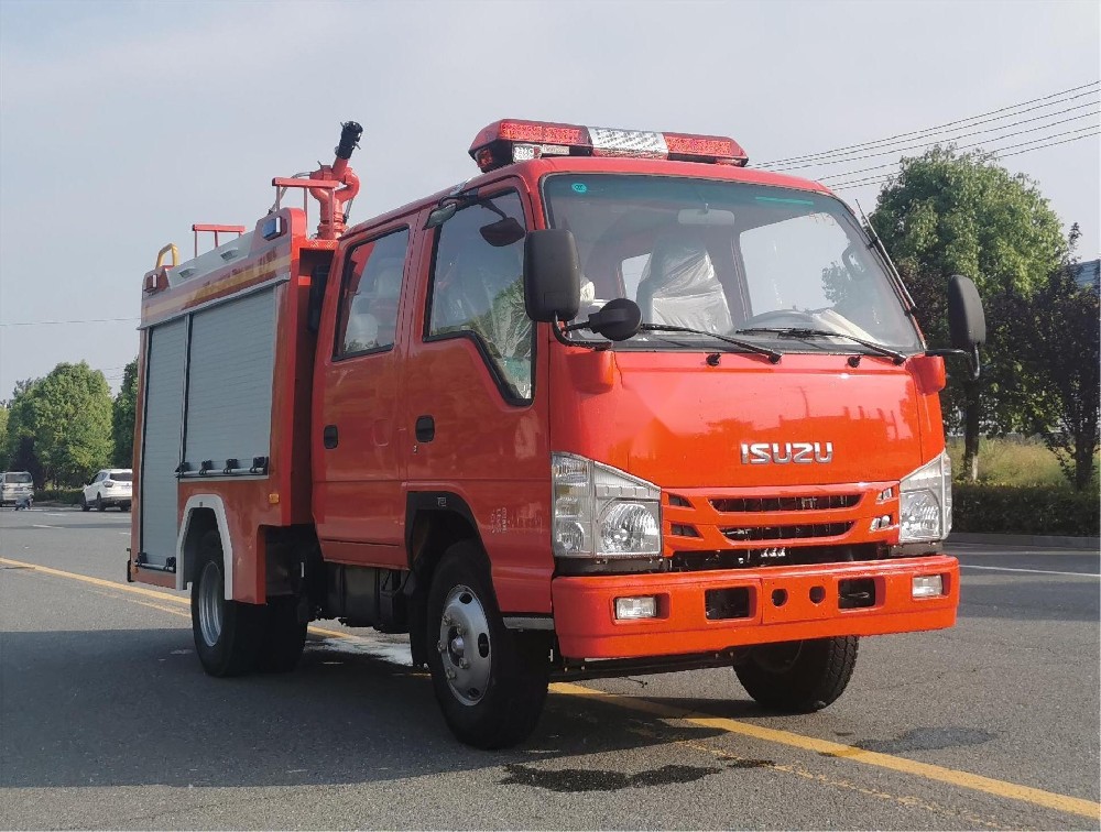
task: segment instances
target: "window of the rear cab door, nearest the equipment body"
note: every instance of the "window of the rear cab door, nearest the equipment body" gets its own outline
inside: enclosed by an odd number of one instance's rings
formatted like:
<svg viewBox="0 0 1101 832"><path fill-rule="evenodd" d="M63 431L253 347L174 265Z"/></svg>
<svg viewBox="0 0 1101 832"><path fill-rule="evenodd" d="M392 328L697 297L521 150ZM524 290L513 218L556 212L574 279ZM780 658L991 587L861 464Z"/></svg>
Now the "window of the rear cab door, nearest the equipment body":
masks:
<svg viewBox="0 0 1101 832"><path fill-rule="evenodd" d="M348 255L335 358L390 349L397 332L408 229L360 243Z"/></svg>

